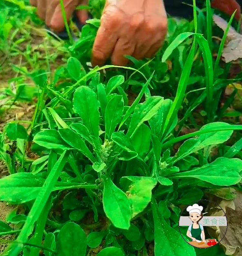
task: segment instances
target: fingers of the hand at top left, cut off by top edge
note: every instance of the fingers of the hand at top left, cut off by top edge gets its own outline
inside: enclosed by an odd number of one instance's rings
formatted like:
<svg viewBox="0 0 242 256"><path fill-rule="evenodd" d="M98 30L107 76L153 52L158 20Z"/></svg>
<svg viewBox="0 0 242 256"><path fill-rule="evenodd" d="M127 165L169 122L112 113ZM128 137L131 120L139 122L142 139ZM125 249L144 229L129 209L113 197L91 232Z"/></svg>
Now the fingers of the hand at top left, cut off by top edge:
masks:
<svg viewBox="0 0 242 256"><path fill-rule="evenodd" d="M37 7L38 16L45 21L46 25L55 32L64 29L64 19L60 6L60 0L30 0L30 4ZM80 4L88 4L88 0L63 0L67 20L71 18L75 7ZM77 10L76 15L81 23L88 19L87 10Z"/></svg>

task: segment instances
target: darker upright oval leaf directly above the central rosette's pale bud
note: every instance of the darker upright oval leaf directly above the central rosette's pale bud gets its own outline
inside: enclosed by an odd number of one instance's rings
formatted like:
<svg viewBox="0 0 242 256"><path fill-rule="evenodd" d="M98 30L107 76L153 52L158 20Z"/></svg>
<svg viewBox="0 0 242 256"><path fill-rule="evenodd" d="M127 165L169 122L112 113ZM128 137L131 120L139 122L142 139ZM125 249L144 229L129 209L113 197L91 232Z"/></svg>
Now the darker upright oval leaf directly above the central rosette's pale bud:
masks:
<svg viewBox="0 0 242 256"><path fill-rule="evenodd" d="M111 138L116 126L120 123L124 111L124 100L121 95L113 96L105 110L105 135Z"/></svg>

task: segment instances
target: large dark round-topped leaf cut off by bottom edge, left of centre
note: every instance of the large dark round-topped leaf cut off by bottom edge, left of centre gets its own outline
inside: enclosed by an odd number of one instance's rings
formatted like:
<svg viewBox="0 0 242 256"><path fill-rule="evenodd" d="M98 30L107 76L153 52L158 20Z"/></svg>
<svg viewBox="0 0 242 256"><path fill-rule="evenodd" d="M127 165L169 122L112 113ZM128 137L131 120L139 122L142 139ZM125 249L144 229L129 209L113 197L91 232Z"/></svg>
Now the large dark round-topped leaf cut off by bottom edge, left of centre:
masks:
<svg viewBox="0 0 242 256"><path fill-rule="evenodd" d="M73 223L66 223L57 236L58 256L85 256L87 250L87 237L83 229Z"/></svg>

